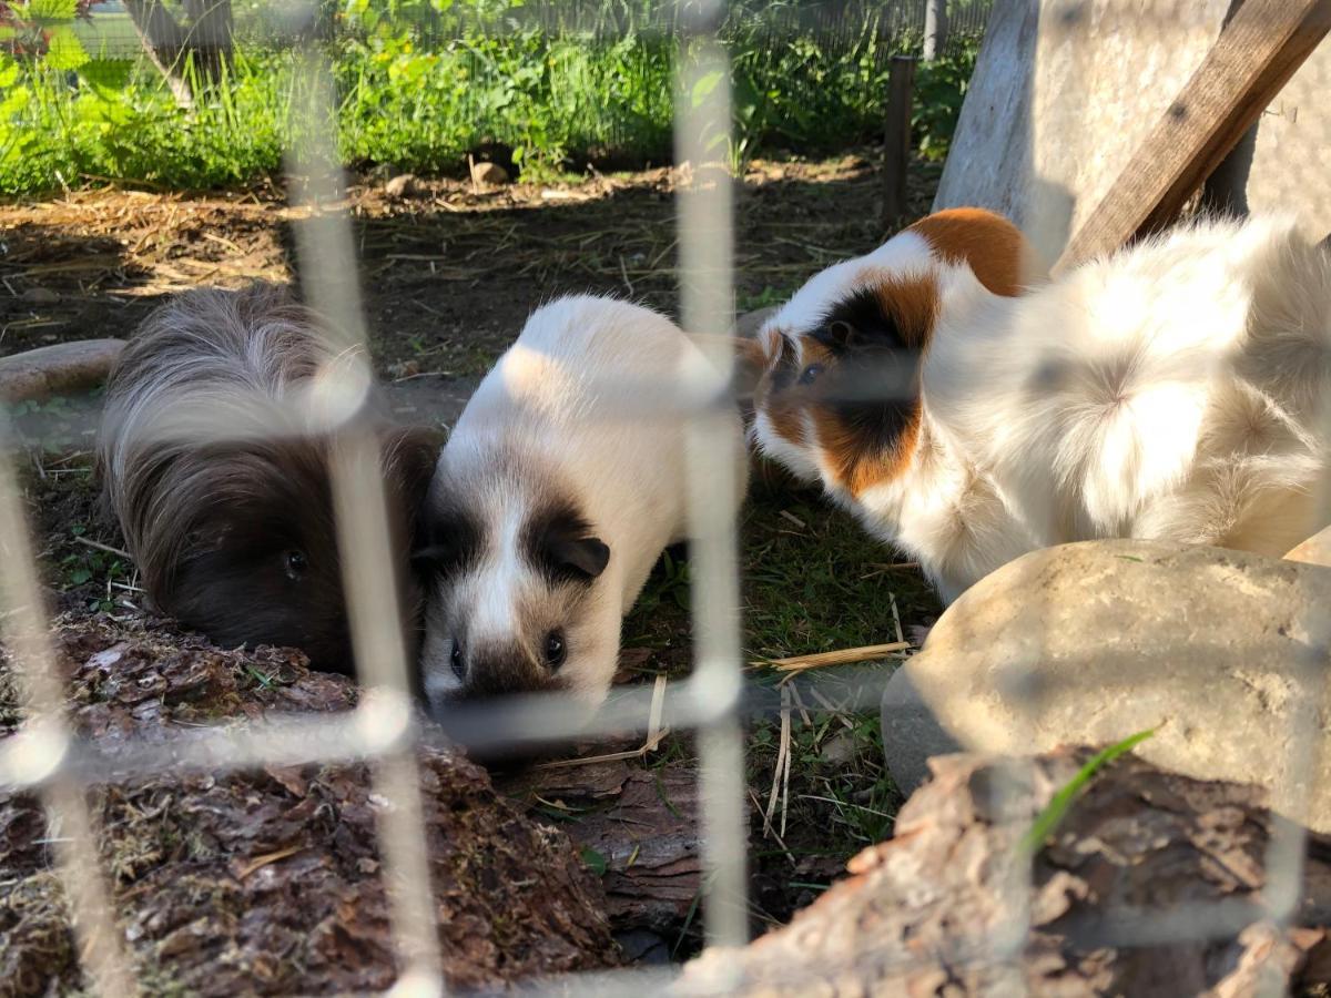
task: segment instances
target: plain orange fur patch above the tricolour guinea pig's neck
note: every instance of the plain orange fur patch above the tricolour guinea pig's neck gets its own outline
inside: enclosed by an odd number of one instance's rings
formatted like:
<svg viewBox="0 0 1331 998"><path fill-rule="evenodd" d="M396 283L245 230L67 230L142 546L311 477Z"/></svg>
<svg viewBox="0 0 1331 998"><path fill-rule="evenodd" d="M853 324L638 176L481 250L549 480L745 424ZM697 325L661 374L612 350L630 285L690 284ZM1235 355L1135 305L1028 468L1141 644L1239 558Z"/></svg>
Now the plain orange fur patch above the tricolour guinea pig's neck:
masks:
<svg viewBox="0 0 1331 998"><path fill-rule="evenodd" d="M949 263L970 265L994 294L1014 298L1037 277L1036 253L1021 230L1002 216L980 208L950 208L912 225Z"/></svg>

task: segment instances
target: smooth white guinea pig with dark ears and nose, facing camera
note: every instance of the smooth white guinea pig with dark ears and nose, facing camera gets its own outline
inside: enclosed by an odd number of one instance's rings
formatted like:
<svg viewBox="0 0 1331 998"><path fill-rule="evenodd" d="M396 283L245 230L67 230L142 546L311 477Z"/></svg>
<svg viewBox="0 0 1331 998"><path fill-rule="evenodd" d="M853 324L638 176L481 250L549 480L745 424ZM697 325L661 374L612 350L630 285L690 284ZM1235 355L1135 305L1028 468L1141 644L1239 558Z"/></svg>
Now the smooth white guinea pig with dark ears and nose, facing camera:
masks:
<svg viewBox="0 0 1331 998"><path fill-rule="evenodd" d="M433 707L547 689L588 708L604 699L624 613L685 538L677 374L700 362L673 322L636 305L580 295L532 313L458 419L426 503L415 560L434 580L421 656ZM747 466L737 409L720 422L716 446Z"/></svg>

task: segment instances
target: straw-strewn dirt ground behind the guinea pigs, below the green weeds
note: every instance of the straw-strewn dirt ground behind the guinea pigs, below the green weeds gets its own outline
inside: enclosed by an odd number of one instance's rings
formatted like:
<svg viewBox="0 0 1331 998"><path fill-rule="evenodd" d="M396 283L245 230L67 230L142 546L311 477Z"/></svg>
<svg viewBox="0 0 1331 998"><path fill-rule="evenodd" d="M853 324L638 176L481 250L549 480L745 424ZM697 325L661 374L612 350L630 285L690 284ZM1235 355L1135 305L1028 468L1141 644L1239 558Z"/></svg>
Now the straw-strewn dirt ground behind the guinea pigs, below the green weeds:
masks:
<svg viewBox="0 0 1331 998"><path fill-rule="evenodd" d="M755 162L736 190L740 310L775 303L809 274L884 237L876 152ZM912 177L928 212L937 168ZM474 190L419 181L411 196L350 188L373 346L390 377L482 373L539 302L616 293L673 313L669 168L579 185ZM124 337L164 295L206 283L293 279L282 192L186 197L71 193L0 205L0 354Z"/></svg>

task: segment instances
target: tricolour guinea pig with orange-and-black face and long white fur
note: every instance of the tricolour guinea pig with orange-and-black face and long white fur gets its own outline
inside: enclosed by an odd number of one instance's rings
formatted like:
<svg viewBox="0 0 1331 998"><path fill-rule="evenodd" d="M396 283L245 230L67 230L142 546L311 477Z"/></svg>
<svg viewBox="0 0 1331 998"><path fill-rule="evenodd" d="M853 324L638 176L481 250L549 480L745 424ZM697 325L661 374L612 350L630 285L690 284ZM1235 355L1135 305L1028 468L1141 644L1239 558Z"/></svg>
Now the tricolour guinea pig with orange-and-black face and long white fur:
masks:
<svg viewBox="0 0 1331 998"><path fill-rule="evenodd" d="M1282 555L1324 526L1331 254L1203 221L1046 282L941 212L759 331L752 435L914 556L945 601L1020 555L1157 538Z"/></svg>

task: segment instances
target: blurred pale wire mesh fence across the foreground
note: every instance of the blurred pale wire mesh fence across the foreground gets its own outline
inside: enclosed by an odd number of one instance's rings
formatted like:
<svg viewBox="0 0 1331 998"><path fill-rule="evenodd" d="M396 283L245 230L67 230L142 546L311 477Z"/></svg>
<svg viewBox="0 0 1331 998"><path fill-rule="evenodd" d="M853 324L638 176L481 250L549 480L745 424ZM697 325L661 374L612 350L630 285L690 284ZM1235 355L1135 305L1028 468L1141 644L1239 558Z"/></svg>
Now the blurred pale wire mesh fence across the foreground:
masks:
<svg viewBox="0 0 1331 998"><path fill-rule="evenodd" d="M715 157L716 137L728 134L732 122L727 53L719 39L724 9L719 4L689 4L677 17L673 27L681 32L691 57L679 65L683 79L677 92L683 97L676 113L676 161L705 164ZM322 85L310 88L305 113L311 122L326 122L333 101L329 69L318 47L310 47L309 59L311 77ZM309 133L318 136L319 129L311 128ZM293 173L314 178L301 194L311 210L295 228L299 273L310 305L321 314L339 317L338 327L326 334L343 349L363 346L359 289L346 278L357 271L350 222L346 213L319 208L337 204L342 194L337 173L317 168L335 161L331 137L323 134L322 141L322 146L302 149L299 156L306 158L291 164ZM695 644L692 676L671 688L668 723L676 731L691 729L699 736L707 942L709 946L739 946L748 938L745 768L740 728L744 681L737 540L729 514L733 503L728 502L739 483L719 410L700 403L723 397L729 381L732 358L724 334L733 322L733 204L731 185L719 172L697 170L676 197L681 325L699 334L715 334L715 339L707 341L715 349L712 369L680 373L673 393L679 399L679 415L689 420L693 444L688 448L688 504ZM1047 210L1057 210L1057 206ZM381 829L398 947L395 991L442 994L447 987L434 923L414 753L421 732L414 720L411 663L393 624L399 615L393 603L394 566L389 555L383 486L373 471L378 467L377 444L347 419L358 411L371 374L365 362L339 365L326 374L326 383L315 399L321 407L301 415L306 424L341 434L345 443L330 472L338 539L349 566L345 584L361 669L358 679L365 689L359 705L341 717L246 723L177 743L120 745L114 768L121 777L132 777L185 769L220 773L266 764L369 760L377 792L395 805L385 812ZM624 386L611 387L626 397L632 394L624 393ZM627 411L626 418L631 416L642 418L642 413ZM220 426L201 442L226 439L226 428ZM17 735L0 744L0 788L40 794L52 822L59 825L59 834L53 837L56 865L75 913L72 923L89 979L100 994L132 994L137 990L133 961L116 926L105 870L97 869L97 830L83 796L87 784L109 762L98 745L75 737L64 721L64 691L48 639L49 621L41 608L41 589L16 484L17 456L11 446L0 460L0 542L7 552L0 559L0 612L12 661L21 679L27 719ZM1032 591L1034 605L1038 607L1041 599L1040 592ZM1032 612L1032 619L1040 616ZM1310 635L1310 648L1323 649L1322 621L1310 616L1300 624ZM1038 643L1040 635L1032 640ZM1306 671L1298 676L1300 688L1318 691L1322 659L1310 655L1304 665ZM1014 687L1021 687L1024 679L1010 677ZM877 691L870 691L869 697L876 703ZM582 707L562 696L511 697L469 708L467 737L484 748L595 732L646 735L652 724L652 691L632 691L612 701L588 727ZM1026 704L1028 709L1032 703ZM1320 697L1310 693L1306 703L1315 705ZM1311 708L1294 711L1290 723L1288 758L1282 766L1288 780L1276 798L1287 813L1296 814L1306 810L1312 788L1318 712ZM1010 780L996 781L992 793L993 813L1006 813L1009 804L1022 797L1021 773L1014 770ZM1298 904L1303 846L1302 828L1278 826L1266 857L1267 888L1255 913L1246 905L1186 905L1163 913L1119 909L1106 913L1091 935L1102 946L1141 946L1231 934L1236 926L1254 919L1280 929L1288 923ZM1020 954L1030 927L1030 869L1014 864L1009 873L1009 921L978 950L953 954L957 958L1004 965ZM928 958L937 955L928 954ZM925 958L921 954L920 959ZM659 973L644 970L640 977L616 977L614 989L623 993L655 983L660 979ZM588 982L588 993L591 987Z"/></svg>

